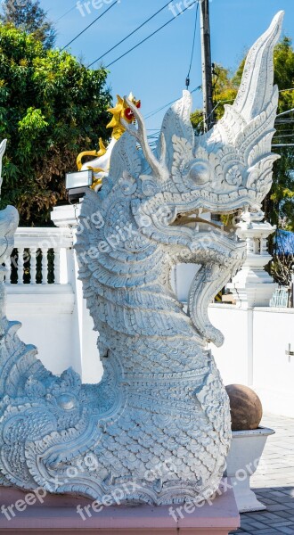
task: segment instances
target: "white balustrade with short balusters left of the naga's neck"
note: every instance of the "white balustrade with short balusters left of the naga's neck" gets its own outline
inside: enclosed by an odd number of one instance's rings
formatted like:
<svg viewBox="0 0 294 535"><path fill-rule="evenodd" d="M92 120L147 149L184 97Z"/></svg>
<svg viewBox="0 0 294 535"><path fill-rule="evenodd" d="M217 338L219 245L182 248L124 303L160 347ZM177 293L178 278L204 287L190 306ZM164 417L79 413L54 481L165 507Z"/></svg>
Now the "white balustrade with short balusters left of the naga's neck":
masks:
<svg viewBox="0 0 294 535"><path fill-rule="evenodd" d="M67 257L72 247L69 227L19 227L12 256L5 262L6 284L68 284Z"/></svg>

